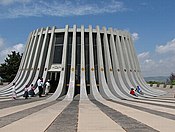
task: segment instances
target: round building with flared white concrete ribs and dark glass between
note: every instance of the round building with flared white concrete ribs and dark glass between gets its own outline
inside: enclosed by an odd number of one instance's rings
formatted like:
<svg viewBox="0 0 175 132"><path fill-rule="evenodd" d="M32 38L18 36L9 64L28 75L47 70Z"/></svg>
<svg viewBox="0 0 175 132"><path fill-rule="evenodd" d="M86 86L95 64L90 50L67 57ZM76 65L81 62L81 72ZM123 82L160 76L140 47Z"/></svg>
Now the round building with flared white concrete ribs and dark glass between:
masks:
<svg viewBox="0 0 175 132"><path fill-rule="evenodd" d="M130 33L99 26L66 25L31 32L13 81L18 96L25 85L36 84L38 77L51 79L53 100L62 95L73 99L76 94L80 99L88 99L88 94L127 99L131 98L130 88L138 85L145 93L142 97L164 94L143 80ZM0 95L10 96L11 84Z"/></svg>

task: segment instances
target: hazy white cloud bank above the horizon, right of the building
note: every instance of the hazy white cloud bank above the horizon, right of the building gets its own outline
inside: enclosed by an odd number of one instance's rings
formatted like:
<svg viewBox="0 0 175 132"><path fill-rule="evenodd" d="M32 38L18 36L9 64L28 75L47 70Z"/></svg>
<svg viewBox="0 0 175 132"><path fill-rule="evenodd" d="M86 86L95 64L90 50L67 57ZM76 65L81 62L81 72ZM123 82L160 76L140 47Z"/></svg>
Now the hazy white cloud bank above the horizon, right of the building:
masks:
<svg viewBox="0 0 175 132"><path fill-rule="evenodd" d="M166 45L156 46L155 53L143 52L138 54L143 76L169 76L175 72L174 45L175 39L167 42Z"/></svg>

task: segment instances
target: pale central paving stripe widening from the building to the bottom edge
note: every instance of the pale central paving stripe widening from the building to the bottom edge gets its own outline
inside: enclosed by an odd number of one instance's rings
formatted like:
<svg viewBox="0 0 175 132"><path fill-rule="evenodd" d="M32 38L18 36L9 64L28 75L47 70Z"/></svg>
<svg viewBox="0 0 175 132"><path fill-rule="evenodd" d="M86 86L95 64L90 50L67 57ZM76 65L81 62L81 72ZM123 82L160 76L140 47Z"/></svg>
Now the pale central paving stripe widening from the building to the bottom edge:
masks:
<svg viewBox="0 0 175 132"><path fill-rule="evenodd" d="M105 115L90 101L79 105L78 132L124 132L125 130Z"/></svg>

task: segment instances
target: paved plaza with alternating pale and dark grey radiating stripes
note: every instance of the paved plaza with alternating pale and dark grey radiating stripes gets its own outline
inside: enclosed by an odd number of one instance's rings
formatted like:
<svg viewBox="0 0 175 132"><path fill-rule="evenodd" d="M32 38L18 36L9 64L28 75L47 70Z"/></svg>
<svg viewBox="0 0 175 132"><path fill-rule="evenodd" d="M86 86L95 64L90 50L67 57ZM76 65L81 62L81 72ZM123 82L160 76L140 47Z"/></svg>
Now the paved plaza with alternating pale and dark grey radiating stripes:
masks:
<svg viewBox="0 0 175 132"><path fill-rule="evenodd" d="M156 99L0 98L0 132L174 132L175 89Z"/></svg>

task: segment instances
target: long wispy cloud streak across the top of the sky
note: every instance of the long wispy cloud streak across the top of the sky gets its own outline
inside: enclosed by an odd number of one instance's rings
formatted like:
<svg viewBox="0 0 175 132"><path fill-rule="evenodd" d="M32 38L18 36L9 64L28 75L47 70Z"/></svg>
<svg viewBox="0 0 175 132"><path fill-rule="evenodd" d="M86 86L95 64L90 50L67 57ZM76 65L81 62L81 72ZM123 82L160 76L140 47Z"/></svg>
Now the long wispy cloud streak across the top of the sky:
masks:
<svg viewBox="0 0 175 132"><path fill-rule="evenodd" d="M24 0L25 1L25 0ZM117 0L102 0L85 3L77 0L60 1L31 1L26 4L16 4L10 8L4 8L0 18L17 18L21 16L79 16L95 15L102 13L116 13L125 11L122 2Z"/></svg>

